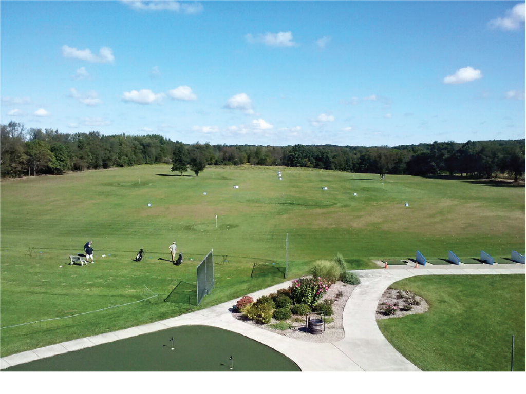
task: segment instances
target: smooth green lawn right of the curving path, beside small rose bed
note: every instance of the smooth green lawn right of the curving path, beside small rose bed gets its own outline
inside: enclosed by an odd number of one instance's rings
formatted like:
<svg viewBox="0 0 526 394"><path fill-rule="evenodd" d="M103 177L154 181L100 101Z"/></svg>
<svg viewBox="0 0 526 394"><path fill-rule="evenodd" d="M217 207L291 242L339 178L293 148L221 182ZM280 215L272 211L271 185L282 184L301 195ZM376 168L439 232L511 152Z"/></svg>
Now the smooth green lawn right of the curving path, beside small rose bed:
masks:
<svg viewBox="0 0 526 394"><path fill-rule="evenodd" d="M426 276L392 288L430 304L423 315L379 320L383 335L424 371L526 371L524 275Z"/></svg>

